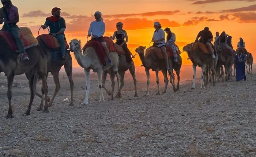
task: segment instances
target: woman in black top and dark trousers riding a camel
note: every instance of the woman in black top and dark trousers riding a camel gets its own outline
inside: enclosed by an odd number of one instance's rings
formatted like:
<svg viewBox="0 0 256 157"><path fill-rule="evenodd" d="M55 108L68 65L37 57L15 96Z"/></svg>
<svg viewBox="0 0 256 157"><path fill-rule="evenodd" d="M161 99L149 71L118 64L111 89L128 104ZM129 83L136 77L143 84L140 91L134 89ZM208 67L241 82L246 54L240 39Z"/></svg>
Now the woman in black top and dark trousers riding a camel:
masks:
<svg viewBox="0 0 256 157"><path fill-rule="evenodd" d="M118 22L116 24L116 29L117 29L117 31L114 32L113 37L111 36L110 38L112 40L116 39L116 44L123 47L123 50L125 51L126 61L128 63L130 63L130 62L132 62L131 52L127 47L127 42L129 41L129 39L128 39L127 32L125 30L123 30L123 23ZM125 38L125 40L124 40L124 38Z"/></svg>

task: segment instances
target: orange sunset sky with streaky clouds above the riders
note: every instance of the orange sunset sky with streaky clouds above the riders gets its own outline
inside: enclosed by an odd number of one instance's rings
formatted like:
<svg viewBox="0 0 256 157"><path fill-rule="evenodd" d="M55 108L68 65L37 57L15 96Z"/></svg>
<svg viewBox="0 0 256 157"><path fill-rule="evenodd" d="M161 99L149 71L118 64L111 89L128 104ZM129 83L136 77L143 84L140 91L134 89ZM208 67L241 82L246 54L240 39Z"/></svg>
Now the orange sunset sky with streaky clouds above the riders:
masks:
<svg viewBox="0 0 256 157"><path fill-rule="evenodd" d="M60 7L67 22L68 42L78 38L84 45L93 14L101 11L106 23L105 36L113 35L116 23L122 22L133 54L136 47L149 46L153 23L159 21L163 28L170 27L176 34L180 49L195 41L197 33L208 26L214 36L216 31L231 35L234 48L242 37L246 49L256 56L256 0L12 0L12 3L19 8L19 26L30 27L35 36L51 9ZM183 64L191 64L186 53L182 53L182 58ZM138 56L135 64L141 65Z"/></svg>

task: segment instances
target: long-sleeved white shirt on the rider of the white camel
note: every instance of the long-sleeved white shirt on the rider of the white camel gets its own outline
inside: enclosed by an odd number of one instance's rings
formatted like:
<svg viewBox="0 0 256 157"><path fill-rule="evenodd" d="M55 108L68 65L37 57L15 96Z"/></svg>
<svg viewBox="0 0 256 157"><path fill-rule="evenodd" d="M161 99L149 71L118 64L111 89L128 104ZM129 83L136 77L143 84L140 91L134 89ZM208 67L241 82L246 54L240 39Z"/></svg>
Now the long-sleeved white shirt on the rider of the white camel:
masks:
<svg viewBox="0 0 256 157"><path fill-rule="evenodd" d="M106 26L103 21L97 22L96 20L94 22L91 22L90 28L88 31L88 34L97 35L97 37L102 37L105 33ZM96 37L93 37L96 38Z"/></svg>

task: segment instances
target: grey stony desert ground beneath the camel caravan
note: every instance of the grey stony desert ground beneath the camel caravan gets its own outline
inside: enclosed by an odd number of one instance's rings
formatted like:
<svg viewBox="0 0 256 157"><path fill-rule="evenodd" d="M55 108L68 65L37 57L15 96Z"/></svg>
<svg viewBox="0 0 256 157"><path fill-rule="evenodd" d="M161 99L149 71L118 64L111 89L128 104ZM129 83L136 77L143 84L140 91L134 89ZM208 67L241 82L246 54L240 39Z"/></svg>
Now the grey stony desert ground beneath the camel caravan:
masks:
<svg viewBox="0 0 256 157"><path fill-rule="evenodd" d="M253 73L256 73L253 67ZM136 67L139 97L129 72L125 75L122 98L99 103L98 81L91 77L89 104L85 77L74 68L74 106L69 107L69 82L60 72L61 88L49 113L37 111L35 96L30 116L23 116L29 103L25 75L15 77L12 88L14 119L5 119L8 110L7 80L0 76L0 155L31 157L255 157L256 156L256 74L246 81L218 82L191 89L192 66L182 66L180 91L156 95L155 74L151 72L150 96L144 69ZM161 89L163 77L161 75ZM198 68L197 77L199 78ZM41 83L37 85L40 91ZM48 96L54 92L48 78ZM106 87L110 89L109 78ZM117 87L117 85L116 85ZM117 88L115 88L115 93Z"/></svg>

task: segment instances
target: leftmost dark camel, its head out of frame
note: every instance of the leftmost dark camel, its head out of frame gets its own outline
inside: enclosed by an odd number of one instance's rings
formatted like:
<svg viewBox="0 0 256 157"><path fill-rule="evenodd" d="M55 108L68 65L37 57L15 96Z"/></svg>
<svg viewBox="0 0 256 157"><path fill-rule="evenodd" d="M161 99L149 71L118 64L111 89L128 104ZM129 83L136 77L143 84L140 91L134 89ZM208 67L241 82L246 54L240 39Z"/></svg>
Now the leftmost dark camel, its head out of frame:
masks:
<svg viewBox="0 0 256 157"><path fill-rule="evenodd" d="M47 85L46 85L46 55L42 50L40 45L35 47L31 47L26 50L27 55L30 60L20 61L18 64L18 54L11 51L9 46L7 46L7 42L0 37L0 73L4 72L7 76L8 80L8 91L7 97L9 102L9 110L8 114L5 118L14 118L12 115L12 83L15 75L20 75L25 73L27 79L29 80L29 88L30 88L30 102L26 115L30 115L31 106L34 100L34 81L35 76L38 75L40 79L42 79L42 94L47 97ZM47 100L45 100L44 112L48 111Z"/></svg>

